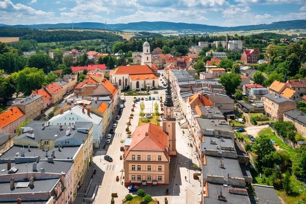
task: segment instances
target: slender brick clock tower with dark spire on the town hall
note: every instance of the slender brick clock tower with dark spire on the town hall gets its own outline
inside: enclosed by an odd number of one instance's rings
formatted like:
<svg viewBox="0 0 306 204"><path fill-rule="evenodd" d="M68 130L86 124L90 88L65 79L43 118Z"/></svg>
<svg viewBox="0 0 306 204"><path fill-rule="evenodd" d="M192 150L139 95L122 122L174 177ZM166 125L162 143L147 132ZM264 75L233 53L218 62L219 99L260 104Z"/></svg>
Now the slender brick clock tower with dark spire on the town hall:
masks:
<svg viewBox="0 0 306 204"><path fill-rule="evenodd" d="M174 106L171 97L169 77L168 86L166 90L166 99L164 101L163 131L168 133L169 136L169 154L171 157L176 157Z"/></svg>

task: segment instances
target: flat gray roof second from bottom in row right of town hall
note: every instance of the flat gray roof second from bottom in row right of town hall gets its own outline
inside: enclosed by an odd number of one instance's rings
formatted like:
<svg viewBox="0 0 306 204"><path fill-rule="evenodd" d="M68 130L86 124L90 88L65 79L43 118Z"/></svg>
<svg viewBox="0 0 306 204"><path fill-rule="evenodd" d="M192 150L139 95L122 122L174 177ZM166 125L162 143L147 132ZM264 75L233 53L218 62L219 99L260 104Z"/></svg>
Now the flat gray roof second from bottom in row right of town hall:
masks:
<svg viewBox="0 0 306 204"><path fill-rule="evenodd" d="M224 168L220 167L220 161L224 164ZM206 156L206 165L202 165L203 177L207 177L208 174L213 174L223 176L224 180L227 180L227 173L230 174L231 177L243 178L237 159Z"/></svg>

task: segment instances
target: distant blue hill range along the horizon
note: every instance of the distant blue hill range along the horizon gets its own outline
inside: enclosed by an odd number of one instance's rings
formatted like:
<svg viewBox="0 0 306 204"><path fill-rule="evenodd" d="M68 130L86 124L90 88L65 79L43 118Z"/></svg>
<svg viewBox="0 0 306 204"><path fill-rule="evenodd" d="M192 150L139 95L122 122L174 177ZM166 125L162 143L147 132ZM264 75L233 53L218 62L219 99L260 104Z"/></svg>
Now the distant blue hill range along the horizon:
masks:
<svg viewBox="0 0 306 204"><path fill-rule="evenodd" d="M34 25L6 25L0 27L29 28L29 29L67 29L72 28L72 23L57 24L34 24ZM99 22L79 22L74 23L75 29L105 29L104 23ZM306 20L278 21L270 24L243 25L238 27L220 27L216 25L176 23L176 22L130 22L107 24L108 30L132 30L132 31L198 31L198 32L221 32L221 31L252 31L252 30L278 30L278 29L306 29Z"/></svg>

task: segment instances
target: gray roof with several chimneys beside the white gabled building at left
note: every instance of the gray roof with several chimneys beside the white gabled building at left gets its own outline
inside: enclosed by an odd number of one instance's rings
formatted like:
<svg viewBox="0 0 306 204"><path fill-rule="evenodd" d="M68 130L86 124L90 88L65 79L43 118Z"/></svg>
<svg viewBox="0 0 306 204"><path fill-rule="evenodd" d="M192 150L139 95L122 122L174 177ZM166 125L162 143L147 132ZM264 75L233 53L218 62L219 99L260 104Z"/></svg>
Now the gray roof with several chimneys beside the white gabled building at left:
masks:
<svg viewBox="0 0 306 204"><path fill-rule="evenodd" d="M42 129L44 123L45 121L36 121L36 120L28 123L26 125L27 127L33 127L34 138L30 138L27 136L27 133L23 133L19 135L15 140L18 140L20 138L27 138L28 140L34 140L36 142L39 142L42 139L63 140L68 137L85 140L88 134L81 133L78 131L78 129L90 129L90 127L92 126L92 122L75 122L74 130L70 128L70 135L66 136L66 126L67 125L63 125L62 130L60 131L58 125L49 125L49 126L46 126L44 129ZM57 137L55 137L55 135L57 135Z"/></svg>

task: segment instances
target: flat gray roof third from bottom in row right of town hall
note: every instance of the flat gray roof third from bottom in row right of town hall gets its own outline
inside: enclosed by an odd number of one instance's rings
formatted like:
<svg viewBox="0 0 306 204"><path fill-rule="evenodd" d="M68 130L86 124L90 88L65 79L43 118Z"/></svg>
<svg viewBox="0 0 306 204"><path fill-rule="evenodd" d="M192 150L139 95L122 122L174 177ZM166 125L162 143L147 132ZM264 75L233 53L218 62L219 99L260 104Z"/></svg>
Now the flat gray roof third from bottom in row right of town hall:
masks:
<svg viewBox="0 0 306 204"><path fill-rule="evenodd" d="M216 144L212 144L211 140L216 141ZM218 146L218 148L217 148ZM206 149L209 150L217 150L220 148L220 146L226 146L226 147L232 147L234 148L233 140L229 138L221 138L219 137L210 137L210 136L204 136L204 142L201 142L201 150L204 151Z"/></svg>

